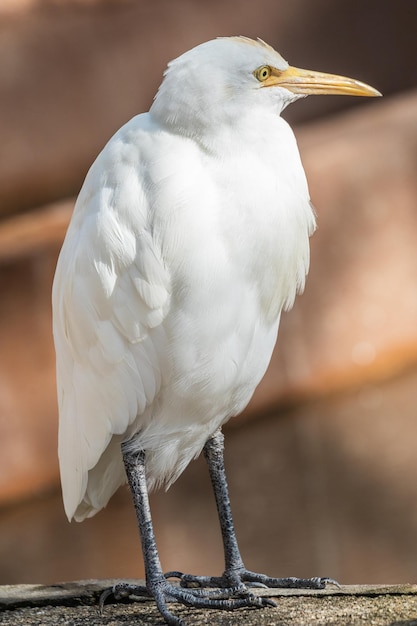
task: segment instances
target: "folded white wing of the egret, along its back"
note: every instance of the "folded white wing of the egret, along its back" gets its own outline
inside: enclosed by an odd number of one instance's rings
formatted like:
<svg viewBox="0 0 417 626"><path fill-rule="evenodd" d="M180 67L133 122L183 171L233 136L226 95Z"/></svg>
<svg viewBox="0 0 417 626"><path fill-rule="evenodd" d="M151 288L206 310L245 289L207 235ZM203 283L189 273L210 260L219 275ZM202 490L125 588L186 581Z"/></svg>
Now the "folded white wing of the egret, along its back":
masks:
<svg viewBox="0 0 417 626"><path fill-rule="evenodd" d="M120 440L161 383L158 342L170 278L149 225L146 177L128 152L115 140L92 166L54 279L59 459L69 518L86 497L89 472L105 455L120 457ZM110 453L112 438L118 441ZM101 467L107 493L79 518L104 506L123 482L123 475L112 478L111 463Z"/></svg>

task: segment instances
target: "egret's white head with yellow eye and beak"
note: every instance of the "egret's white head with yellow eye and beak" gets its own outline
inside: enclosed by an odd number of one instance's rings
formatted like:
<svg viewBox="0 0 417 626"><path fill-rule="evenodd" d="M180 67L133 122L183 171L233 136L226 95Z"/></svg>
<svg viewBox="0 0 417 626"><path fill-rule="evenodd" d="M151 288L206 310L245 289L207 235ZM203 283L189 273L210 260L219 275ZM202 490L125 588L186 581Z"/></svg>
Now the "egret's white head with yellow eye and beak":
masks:
<svg viewBox="0 0 417 626"><path fill-rule="evenodd" d="M179 132L197 134L233 124L259 105L279 114L310 94L381 95L352 78L291 67L260 39L219 37L169 63L151 112Z"/></svg>

